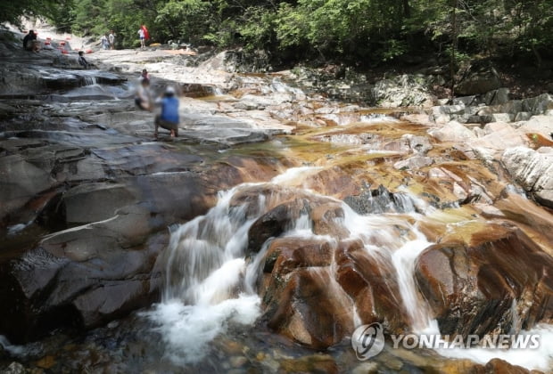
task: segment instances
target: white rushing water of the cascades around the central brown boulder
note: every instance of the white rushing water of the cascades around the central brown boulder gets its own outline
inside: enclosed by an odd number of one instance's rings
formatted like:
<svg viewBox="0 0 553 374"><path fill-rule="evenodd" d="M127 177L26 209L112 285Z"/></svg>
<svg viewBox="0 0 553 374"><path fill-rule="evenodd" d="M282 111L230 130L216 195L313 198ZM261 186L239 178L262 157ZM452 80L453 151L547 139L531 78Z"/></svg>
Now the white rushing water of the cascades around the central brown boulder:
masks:
<svg viewBox="0 0 553 374"><path fill-rule="evenodd" d="M312 193L302 187L301 181L317 171L317 167L291 168L268 183L244 183L229 191L221 191L218 204L206 215L171 229L169 248L164 256L166 279L162 302L145 314L161 333L167 344L166 355L172 362L186 365L202 361L209 351L210 342L225 333L229 326L252 325L261 315L257 280L268 246L266 243L255 256L246 258L248 231L260 215L267 212L268 202L275 198L273 194L276 192L242 204L237 204L235 197L252 188L259 188L259 191L286 188ZM412 333L439 335L437 322L430 317L425 300L417 292L413 273L417 256L432 243L417 230L416 225L407 223L394 211L395 207L403 215L417 217L420 213L415 210L425 214L433 208L407 194L399 204L386 202L388 212L377 215L358 215L342 201L339 203L345 213L340 219L341 224L349 232L349 238L362 240L370 256L382 266L395 269L401 303L408 313ZM382 201L380 203L382 205ZM398 235L398 227L406 233ZM306 215L300 215L281 236L319 237L331 243L334 240L327 235L314 234ZM376 237L378 245L374 244ZM310 271L325 279L335 279L334 266ZM343 307L351 311L355 327L362 324L354 301L340 285L330 281L327 287L333 295L339 294ZM537 331L544 339L553 335L547 328L540 327ZM543 342L541 349L531 355L523 350L494 352L478 348L437 351L447 357L470 358L483 363L500 356L509 362L526 363L532 367L532 361L534 365L536 362L547 365L547 357L553 352L548 344Z"/></svg>

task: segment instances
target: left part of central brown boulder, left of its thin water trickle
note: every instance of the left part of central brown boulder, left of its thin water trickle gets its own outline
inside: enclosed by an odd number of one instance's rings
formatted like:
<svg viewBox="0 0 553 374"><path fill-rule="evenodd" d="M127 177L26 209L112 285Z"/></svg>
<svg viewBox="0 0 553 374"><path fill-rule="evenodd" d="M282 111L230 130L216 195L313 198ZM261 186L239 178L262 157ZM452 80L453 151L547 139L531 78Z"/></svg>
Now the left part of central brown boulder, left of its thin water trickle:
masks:
<svg viewBox="0 0 553 374"><path fill-rule="evenodd" d="M261 297L268 326L315 348L353 330L351 302L329 272L334 248L324 240L273 240L265 256Z"/></svg>

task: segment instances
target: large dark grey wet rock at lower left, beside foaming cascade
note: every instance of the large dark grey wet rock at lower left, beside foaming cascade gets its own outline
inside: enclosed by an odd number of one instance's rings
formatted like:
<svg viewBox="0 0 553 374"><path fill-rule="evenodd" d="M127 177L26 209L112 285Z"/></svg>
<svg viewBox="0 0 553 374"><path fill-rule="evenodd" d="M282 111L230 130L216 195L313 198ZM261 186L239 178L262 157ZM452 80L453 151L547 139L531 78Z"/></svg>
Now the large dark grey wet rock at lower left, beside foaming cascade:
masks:
<svg viewBox="0 0 553 374"><path fill-rule="evenodd" d="M133 224L128 222L128 234L136 230ZM8 297L10 306L0 328L13 342L59 327L95 327L158 296L160 274L153 274L152 267L167 237L153 236L143 246L126 249L117 242L119 233L100 224L85 230L55 234L1 265L2 301L8 303ZM128 238L127 245L135 240Z"/></svg>

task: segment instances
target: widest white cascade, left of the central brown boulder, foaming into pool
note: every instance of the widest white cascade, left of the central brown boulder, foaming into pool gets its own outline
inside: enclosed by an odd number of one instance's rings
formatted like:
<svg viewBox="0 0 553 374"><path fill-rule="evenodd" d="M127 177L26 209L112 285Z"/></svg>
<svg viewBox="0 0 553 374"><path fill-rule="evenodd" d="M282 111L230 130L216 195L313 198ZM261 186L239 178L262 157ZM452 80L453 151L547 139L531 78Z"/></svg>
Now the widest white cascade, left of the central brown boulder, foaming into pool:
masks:
<svg viewBox="0 0 553 374"><path fill-rule="evenodd" d="M157 324L173 362L200 361L230 321L251 324L260 314L260 298L243 281L247 232L254 220L244 207L230 206L244 186L219 193L218 204L206 215L171 232L163 300L146 315Z"/></svg>

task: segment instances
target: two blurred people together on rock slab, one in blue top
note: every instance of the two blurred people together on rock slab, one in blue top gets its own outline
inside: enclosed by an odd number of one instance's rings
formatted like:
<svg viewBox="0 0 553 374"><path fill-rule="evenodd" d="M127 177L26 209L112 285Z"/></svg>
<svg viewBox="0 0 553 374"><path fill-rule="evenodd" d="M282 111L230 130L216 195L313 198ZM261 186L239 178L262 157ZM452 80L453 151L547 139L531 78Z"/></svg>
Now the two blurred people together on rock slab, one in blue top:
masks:
<svg viewBox="0 0 553 374"><path fill-rule="evenodd" d="M178 99L173 87L169 85L162 97L154 101L150 91L150 75L146 69L143 69L135 102L141 110L153 111L156 104L161 107L161 113L155 116L153 122L155 126L153 136L155 139L158 138L159 127L169 130L172 137L178 136Z"/></svg>

